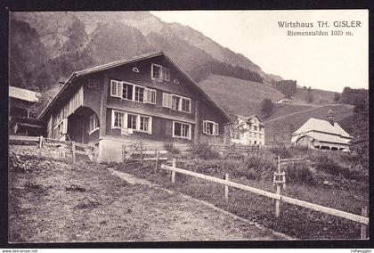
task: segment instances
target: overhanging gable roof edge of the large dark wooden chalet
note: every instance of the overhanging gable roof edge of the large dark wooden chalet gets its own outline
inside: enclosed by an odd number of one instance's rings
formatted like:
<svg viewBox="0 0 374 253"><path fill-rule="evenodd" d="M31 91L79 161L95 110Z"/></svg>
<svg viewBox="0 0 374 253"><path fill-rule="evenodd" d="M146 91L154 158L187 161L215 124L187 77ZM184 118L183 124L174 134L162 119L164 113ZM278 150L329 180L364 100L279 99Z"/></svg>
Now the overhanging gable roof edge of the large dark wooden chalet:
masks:
<svg viewBox="0 0 374 253"><path fill-rule="evenodd" d="M191 81L192 85L194 87L196 87L199 90L199 92L207 98L208 101L212 102L215 105L215 107L218 108L218 110L220 110L224 114L224 117L226 117L227 119L232 121L232 117L222 107L220 107L187 73L185 73L183 71L183 69L181 69L174 61L172 61L167 56L167 54L164 53L163 51L144 53L142 55L130 57L130 58L127 58L127 59L124 59L124 60L112 61L110 63L102 64L102 65L99 65L99 66L96 66L96 67L93 67L93 68L90 68L90 69L84 69L84 70L73 72L70 75L70 77L68 78L68 80L65 82L64 86L62 86L60 92L53 97L53 100L48 103L48 105L40 113L38 118L43 118L45 116L45 113L48 110L50 110L51 106L53 105L53 102L55 102L58 99L58 97L61 95L61 93L67 88L67 86L70 86L72 84L72 81L75 78L82 77L82 76L89 75L89 74L93 74L95 72L102 71L102 70L105 70L105 69L111 69L111 68L115 68L115 67L118 67L118 66L126 65L126 64L134 62L134 61L141 61L141 60L150 59L150 58L153 58L153 57L157 57L159 55L163 55L164 57L166 57L167 60L170 61L175 66L176 69L181 71L183 73L183 75Z"/></svg>

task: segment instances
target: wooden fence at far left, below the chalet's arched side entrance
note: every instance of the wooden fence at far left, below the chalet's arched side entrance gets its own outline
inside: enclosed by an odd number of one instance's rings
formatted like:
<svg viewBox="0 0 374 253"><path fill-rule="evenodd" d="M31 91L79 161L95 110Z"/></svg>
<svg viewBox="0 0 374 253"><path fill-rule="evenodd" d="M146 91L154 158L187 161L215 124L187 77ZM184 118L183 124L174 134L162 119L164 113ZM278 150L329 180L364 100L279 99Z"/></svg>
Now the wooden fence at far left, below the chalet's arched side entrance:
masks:
<svg viewBox="0 0 374 253"><path fill-rule="evenodd" d="M37 143L38 148L41 150L46 146L56 147L59 151L59 156L65 158L66 152L71 154L71 159L76 161L77 154L85 155L88 159L95 161L97 154L95 148L92 145L86 145L82 143L68 142L55 140L51 138L44 138L43 136L23 136L23 135L9 135L9 142L30 142Z"/></svg>

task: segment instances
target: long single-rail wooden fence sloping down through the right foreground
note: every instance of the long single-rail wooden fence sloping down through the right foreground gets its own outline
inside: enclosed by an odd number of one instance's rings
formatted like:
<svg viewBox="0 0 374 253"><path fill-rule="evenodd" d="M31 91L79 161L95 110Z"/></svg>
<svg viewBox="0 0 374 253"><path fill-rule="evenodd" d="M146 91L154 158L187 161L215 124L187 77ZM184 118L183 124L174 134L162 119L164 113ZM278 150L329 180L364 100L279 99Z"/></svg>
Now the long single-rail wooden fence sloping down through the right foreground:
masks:
<svg viewBox="0 0 374 253"><path fill-rule="evenodd" d="M294 199L294 198L283 196L283 195L280 195L280 193L266 192L264 190L256 189L254 187L250 187L250 186L245 185L245 184L234 183L232 181L229 181L229 176L228 175L225 175L225 179L220 179L220 178L216 178L214 176L203 175L203 174L200 174L200 173L196 173L196 172L192 172L192 171L185 170L185 169L182 169L182 168L178 168L178 167L176 167L176 160L175 159L173 159L172 166L163 164L163 165L161 165L161 168L170 170L172 172L172 175L171 175L172 184L175 184L175 173L176 172L184 174L184 175L191 175L191 176L194 176L194 177L197 177L197 178L205 179L207 181L214 182L216 184L224 184L225 185L225 192L224 192L225 200L228 200L228 192L229 192L228 187L231 186L231 187L234 187L234 188L238 188L238 189L248 191L248 192L253 192L255 194L258 194L258 195L276 200L276 205L278 206L278 212L280 211L279 203L280 203L280 201L283 201L283 202L289 203L291 205L296 205L296 206L303 207L303 208L313 209L314 211L322 212L322 213L325 213L325 214L328 214L328 215L331 215L331 216L339 216L339 217L342 217L342 218L346 218L348 220L351 220L351 221L362 224L361 238L362 239L367 238L367 233L366 232L367 232L367 228L368 228L368 225L369 225L369 217L367 217L366 208L362 209L362 216L354 215L354 214L347 213L345 211L337 210L337 209L334 209L334 208L327 208L327 207L323 207L321 205L313 204L311 202L307 202L307 201L304 201L304 200L297 200L297 199ZM276 212L277 212L277 208L276 208ZM276 213L276 215L279 216L279 213L278 214Z"/></svg>

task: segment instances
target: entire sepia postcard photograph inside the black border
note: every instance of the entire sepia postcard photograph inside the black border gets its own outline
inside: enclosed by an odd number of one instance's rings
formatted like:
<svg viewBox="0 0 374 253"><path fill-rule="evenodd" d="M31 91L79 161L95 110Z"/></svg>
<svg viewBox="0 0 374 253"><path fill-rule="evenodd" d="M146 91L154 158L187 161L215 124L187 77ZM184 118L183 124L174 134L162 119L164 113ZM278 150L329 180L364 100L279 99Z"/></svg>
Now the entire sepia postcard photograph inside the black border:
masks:
<svg viewBox="0 0 374 253"><path fill-rule="evenodd" d="M370 239L368 10L11 11L8 99L14 245Z"/></svg>

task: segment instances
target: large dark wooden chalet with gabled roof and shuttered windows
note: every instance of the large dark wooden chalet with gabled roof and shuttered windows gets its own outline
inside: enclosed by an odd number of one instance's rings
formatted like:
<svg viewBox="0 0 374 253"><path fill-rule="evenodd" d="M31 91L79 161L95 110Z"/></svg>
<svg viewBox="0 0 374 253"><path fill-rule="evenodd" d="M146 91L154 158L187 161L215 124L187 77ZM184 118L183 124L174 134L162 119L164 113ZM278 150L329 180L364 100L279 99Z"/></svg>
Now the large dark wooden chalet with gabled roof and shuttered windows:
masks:
<svg viewBox="0 0 374 253"><path fill-rule="evenodd" d="M49 137L94 143L114 161L126 141L223 143L231 121L163 52L73 73L40 118Z"/></svg>

